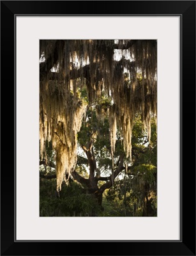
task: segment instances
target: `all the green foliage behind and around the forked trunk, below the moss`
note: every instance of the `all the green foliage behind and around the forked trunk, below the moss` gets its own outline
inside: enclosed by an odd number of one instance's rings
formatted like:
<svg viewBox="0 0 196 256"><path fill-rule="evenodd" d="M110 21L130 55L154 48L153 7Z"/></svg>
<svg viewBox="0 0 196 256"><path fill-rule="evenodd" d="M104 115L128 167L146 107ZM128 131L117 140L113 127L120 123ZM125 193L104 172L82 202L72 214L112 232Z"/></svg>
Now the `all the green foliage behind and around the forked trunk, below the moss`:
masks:
<svg viewBox="0 0 196 256"><path fill-rule="evenodd" d="M94 118L93 122L91 118ZM93 123L97 122L96 115L91 113L86 126L83 125L78 134L79 143L87 143L87 132L92 131ZM108 175L112 168L108 120L100 122L99 127L105 133L100 132L93 145L98 163L97 172L104 176ZM60 196L58 196L55 179L40 179L40 216L142 216L146 196L149 198L151 216L152 214L156 216L156 123L153 119L151 139L150 144L146 142L146 132L142 129L141 118L138 115L133 128L133 163L128 166L128 170L124 168L114 180L113 186L103 193L103 211L100 211L93 194L87 193L87 188L78 182L71 179L68 185L63 183ZM120 137L118 137L116 146L117 159L118 154L123 150ZM50 147L48 152L51 154ZM87 167L88 162L85 156L78 156L76 170L86 179L89 177ZM53 172L50 170L50 174ZM104 183L100 181L99 186Z"/></svg>

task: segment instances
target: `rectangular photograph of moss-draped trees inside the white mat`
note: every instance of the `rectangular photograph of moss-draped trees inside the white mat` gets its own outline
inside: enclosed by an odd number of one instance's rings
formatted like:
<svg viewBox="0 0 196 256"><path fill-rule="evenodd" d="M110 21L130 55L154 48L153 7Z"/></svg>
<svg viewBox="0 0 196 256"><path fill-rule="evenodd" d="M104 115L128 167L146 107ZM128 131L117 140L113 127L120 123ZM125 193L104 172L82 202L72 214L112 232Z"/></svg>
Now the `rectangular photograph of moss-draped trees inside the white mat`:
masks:
<svg viewBox="0 0 196 256"><path fill-rule="evenodd" d="M40 40L40 216L156 216L157 40Z"/></svg>

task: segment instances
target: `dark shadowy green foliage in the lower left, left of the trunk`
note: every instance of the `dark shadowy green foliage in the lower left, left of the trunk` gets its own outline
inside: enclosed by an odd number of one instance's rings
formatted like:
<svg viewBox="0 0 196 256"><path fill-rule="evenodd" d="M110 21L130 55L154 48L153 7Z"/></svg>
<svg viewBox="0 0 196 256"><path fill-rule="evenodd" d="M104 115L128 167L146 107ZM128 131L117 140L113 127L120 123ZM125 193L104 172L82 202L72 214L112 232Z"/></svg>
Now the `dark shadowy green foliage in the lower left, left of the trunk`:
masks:
<svg viewBox="0 0 196 256"><path fill-rule="evenodd" d="M93 195L80 184L63 184L58 195L56 180L40 180L40 216L93 216L99 211Z"/></svg>

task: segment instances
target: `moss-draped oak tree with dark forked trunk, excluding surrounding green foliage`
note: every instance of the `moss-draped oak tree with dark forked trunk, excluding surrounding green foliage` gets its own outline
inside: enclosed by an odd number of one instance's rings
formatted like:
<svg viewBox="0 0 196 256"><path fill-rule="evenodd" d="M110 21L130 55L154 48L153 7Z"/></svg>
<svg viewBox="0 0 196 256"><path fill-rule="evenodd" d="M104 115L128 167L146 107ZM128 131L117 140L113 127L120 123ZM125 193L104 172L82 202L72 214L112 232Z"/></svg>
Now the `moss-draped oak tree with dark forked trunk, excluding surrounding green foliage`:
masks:
<svg viewBox="0 0 196 256"><path fill-rule="evenodd" d="M51 142L57 191L71 175L102 204L103 191L133 165L132 131L138 114L151 141L156 87L156 40L40 40L40 158L46 163ZM96 118L96 129L88 128L88 114ZM94 144L104 120L111 164L103 177ZM123 145L119 152L117 140ZM88 179L77 172L78 145L86 155ZM98 186L99 181L105 183Z"/></svg>

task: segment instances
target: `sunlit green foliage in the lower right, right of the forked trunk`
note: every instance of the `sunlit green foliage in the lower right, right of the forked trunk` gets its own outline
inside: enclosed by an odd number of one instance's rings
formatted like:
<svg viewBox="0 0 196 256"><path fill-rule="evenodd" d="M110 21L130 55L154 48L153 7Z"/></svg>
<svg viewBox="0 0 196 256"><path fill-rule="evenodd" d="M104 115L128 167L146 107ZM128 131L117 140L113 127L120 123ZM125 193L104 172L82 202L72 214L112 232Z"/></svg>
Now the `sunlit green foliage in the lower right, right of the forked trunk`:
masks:
<svg viewBox="0 0 196 256"><path fill-rule="evenodd" d="M146 132L142 130L142 122L137 116L137 122L133 129L133 164L123 174L123 179L114 183L107 191L106 201L110 202L110 213L119 216L142 216L146 201L151 212L156 216L156 123L152 120L151 143L146 142ZM121 207L117 207L121 205ZM119 212L119 209L121 211Z"/></svg>

